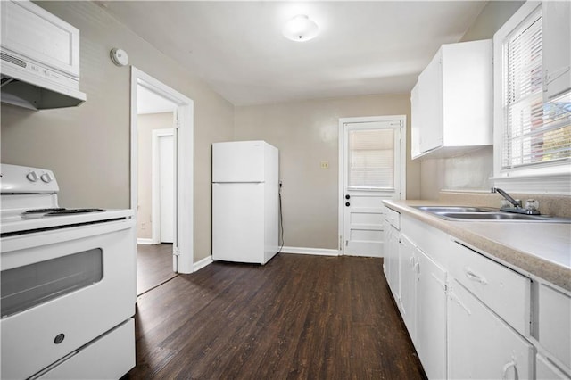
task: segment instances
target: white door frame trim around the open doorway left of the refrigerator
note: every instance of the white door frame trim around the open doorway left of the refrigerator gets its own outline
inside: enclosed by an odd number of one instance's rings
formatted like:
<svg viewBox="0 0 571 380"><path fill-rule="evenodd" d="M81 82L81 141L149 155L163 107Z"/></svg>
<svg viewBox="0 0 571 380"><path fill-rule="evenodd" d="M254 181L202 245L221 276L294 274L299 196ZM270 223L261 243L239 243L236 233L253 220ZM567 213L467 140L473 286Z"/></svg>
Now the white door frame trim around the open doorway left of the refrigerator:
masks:
<svg viewBox="0 0 571 380"><path fill-rule="evenodd" d="M131 66L131 210L137 215L137 87L161 95L177 108L173 133L175 160L175 224L173 231L173 270L194 271L194 102L160 80Z"/></svg>

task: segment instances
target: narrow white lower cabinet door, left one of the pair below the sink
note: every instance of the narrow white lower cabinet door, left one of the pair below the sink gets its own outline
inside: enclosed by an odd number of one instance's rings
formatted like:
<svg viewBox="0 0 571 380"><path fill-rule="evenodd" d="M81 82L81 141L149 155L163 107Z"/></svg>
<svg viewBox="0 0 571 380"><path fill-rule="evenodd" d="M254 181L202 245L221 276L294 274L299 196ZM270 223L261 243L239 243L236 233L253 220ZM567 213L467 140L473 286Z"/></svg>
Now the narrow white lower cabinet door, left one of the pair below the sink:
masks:
<svg viewBox="0 0 571 380"><path fill-rule="evenodd" d="M404 235L401 235L399 259L401 261L401 314L404 324L409 330L412 342L416 340L416 288L417 260L415 246Z"/></svg>

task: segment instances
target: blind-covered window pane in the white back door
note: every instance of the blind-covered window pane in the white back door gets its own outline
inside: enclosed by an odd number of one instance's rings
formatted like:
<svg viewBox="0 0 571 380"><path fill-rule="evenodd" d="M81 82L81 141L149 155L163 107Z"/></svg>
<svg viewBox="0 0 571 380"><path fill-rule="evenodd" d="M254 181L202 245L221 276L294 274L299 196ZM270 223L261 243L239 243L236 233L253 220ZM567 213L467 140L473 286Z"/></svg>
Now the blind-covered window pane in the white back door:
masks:
<svg viewBox="0 0 571 380"><path fill-rule="evenodd" d="M394 129L349 133L348 185L352 188L394 188Z"/></svg>

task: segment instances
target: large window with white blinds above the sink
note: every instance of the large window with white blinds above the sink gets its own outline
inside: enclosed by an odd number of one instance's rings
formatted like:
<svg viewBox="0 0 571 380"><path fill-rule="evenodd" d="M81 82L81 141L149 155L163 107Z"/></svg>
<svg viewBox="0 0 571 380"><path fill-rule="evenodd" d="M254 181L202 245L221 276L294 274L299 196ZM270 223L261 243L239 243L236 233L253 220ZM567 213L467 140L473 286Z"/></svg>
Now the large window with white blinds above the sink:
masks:
<svg viewBox="0 0 571 380"><path fill-rule="evenodd" d="M504 40L502 169L571 157L571 94L543 103L542 12Z"/></svg>

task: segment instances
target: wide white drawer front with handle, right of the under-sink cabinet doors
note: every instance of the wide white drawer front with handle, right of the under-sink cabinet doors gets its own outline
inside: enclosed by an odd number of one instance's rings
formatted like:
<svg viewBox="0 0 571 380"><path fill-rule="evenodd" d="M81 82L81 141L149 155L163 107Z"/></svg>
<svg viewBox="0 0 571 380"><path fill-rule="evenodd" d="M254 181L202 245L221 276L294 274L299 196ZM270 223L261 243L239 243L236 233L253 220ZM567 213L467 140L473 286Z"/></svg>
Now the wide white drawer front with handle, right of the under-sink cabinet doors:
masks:
<svg viewBox="0 0 571 380"><path fill-rule="evenodd" d="M529 278L457 242L451 242L450 272L510 326L523 335L529 335Z"/></svg>

